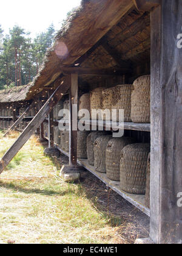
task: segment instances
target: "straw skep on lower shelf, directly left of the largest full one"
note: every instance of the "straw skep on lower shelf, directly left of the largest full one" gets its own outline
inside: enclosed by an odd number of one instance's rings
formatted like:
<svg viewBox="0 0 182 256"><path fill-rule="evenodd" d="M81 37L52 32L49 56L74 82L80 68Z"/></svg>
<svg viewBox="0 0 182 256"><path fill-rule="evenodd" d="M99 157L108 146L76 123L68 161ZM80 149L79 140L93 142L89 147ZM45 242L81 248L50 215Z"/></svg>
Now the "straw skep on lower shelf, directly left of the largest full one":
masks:
<svg viewBox="0 0 182 256"><path fill-rule="evenodd" d="M135 140L129 137L112 138L106 148L106 174L110 180L120 181L121 150Z"/></svg>

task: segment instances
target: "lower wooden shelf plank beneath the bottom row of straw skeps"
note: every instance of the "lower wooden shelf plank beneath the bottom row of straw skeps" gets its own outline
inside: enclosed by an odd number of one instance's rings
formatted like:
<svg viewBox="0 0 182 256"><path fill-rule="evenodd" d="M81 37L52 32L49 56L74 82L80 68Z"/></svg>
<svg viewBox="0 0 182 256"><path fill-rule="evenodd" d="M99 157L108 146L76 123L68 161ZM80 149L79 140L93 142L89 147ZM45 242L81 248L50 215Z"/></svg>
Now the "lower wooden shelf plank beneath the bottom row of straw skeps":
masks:
<svg viewBox="0 0 182 256"><path fill-rule="evenodd" d="M59 151L67 155L69 157L69 152L63 151L61 148L59 148L58 145L55 145L56 148L59 149ZM136 208L140 209L143 213L145 213L147 216L150 217L150 210L145 206L145 196L141 194L129 194L121 190L120 188L120 182L114 182L107 178L105 173L97 172L95 171L94 166L89 165L87 159L78 159L78 165L83 166L88 171L90 171L93 175L98 177L98 179L102 180L108 187L112 188L116 193L120 194L124 199L126 199L130 204L134 205Z"/></svg>

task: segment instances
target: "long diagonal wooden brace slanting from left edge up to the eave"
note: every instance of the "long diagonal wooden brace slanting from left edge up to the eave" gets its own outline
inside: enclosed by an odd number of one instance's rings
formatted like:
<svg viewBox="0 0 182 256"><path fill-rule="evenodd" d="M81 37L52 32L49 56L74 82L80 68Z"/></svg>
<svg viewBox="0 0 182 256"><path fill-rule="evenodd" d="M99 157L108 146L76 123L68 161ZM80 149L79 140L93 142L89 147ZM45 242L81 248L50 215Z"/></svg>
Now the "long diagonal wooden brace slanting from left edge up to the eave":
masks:
<svg viewBox="0 0 182 256"><path fill-rule="evenodd" d="M30 122L30 124L25 128L25 130L21 133L19 138L15 141L13 146L8 149L5 155L2 157L0 162L0 174L4 171L4 168L10 163L13 157L19 152L19 150L24 146L24 144L29 140L29 138L33 135L35 130L40 126L40 124L44 121L45 117L49 115L52 111L52 108L60 101L63 94L67 92L70 87L69 81L67 79L59 81L61 85L55 90L55 92L50 96L48 101L44 104L44 106L39 110L36 114L35 118Z"/></svg>

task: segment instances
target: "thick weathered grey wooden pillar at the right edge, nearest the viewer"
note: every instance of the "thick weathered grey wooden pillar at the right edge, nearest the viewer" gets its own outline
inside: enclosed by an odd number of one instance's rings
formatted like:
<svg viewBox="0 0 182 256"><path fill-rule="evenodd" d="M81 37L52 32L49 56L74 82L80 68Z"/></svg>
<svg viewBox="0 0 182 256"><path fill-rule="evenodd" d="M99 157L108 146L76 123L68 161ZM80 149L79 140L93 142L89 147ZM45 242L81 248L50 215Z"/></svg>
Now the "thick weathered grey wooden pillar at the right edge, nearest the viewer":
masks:
<svg viewBox="0 0 182 256"><path fill-rule="evenodd" d="M151 12L150 237L182 243L181 0L161 0Z"/></svg>

